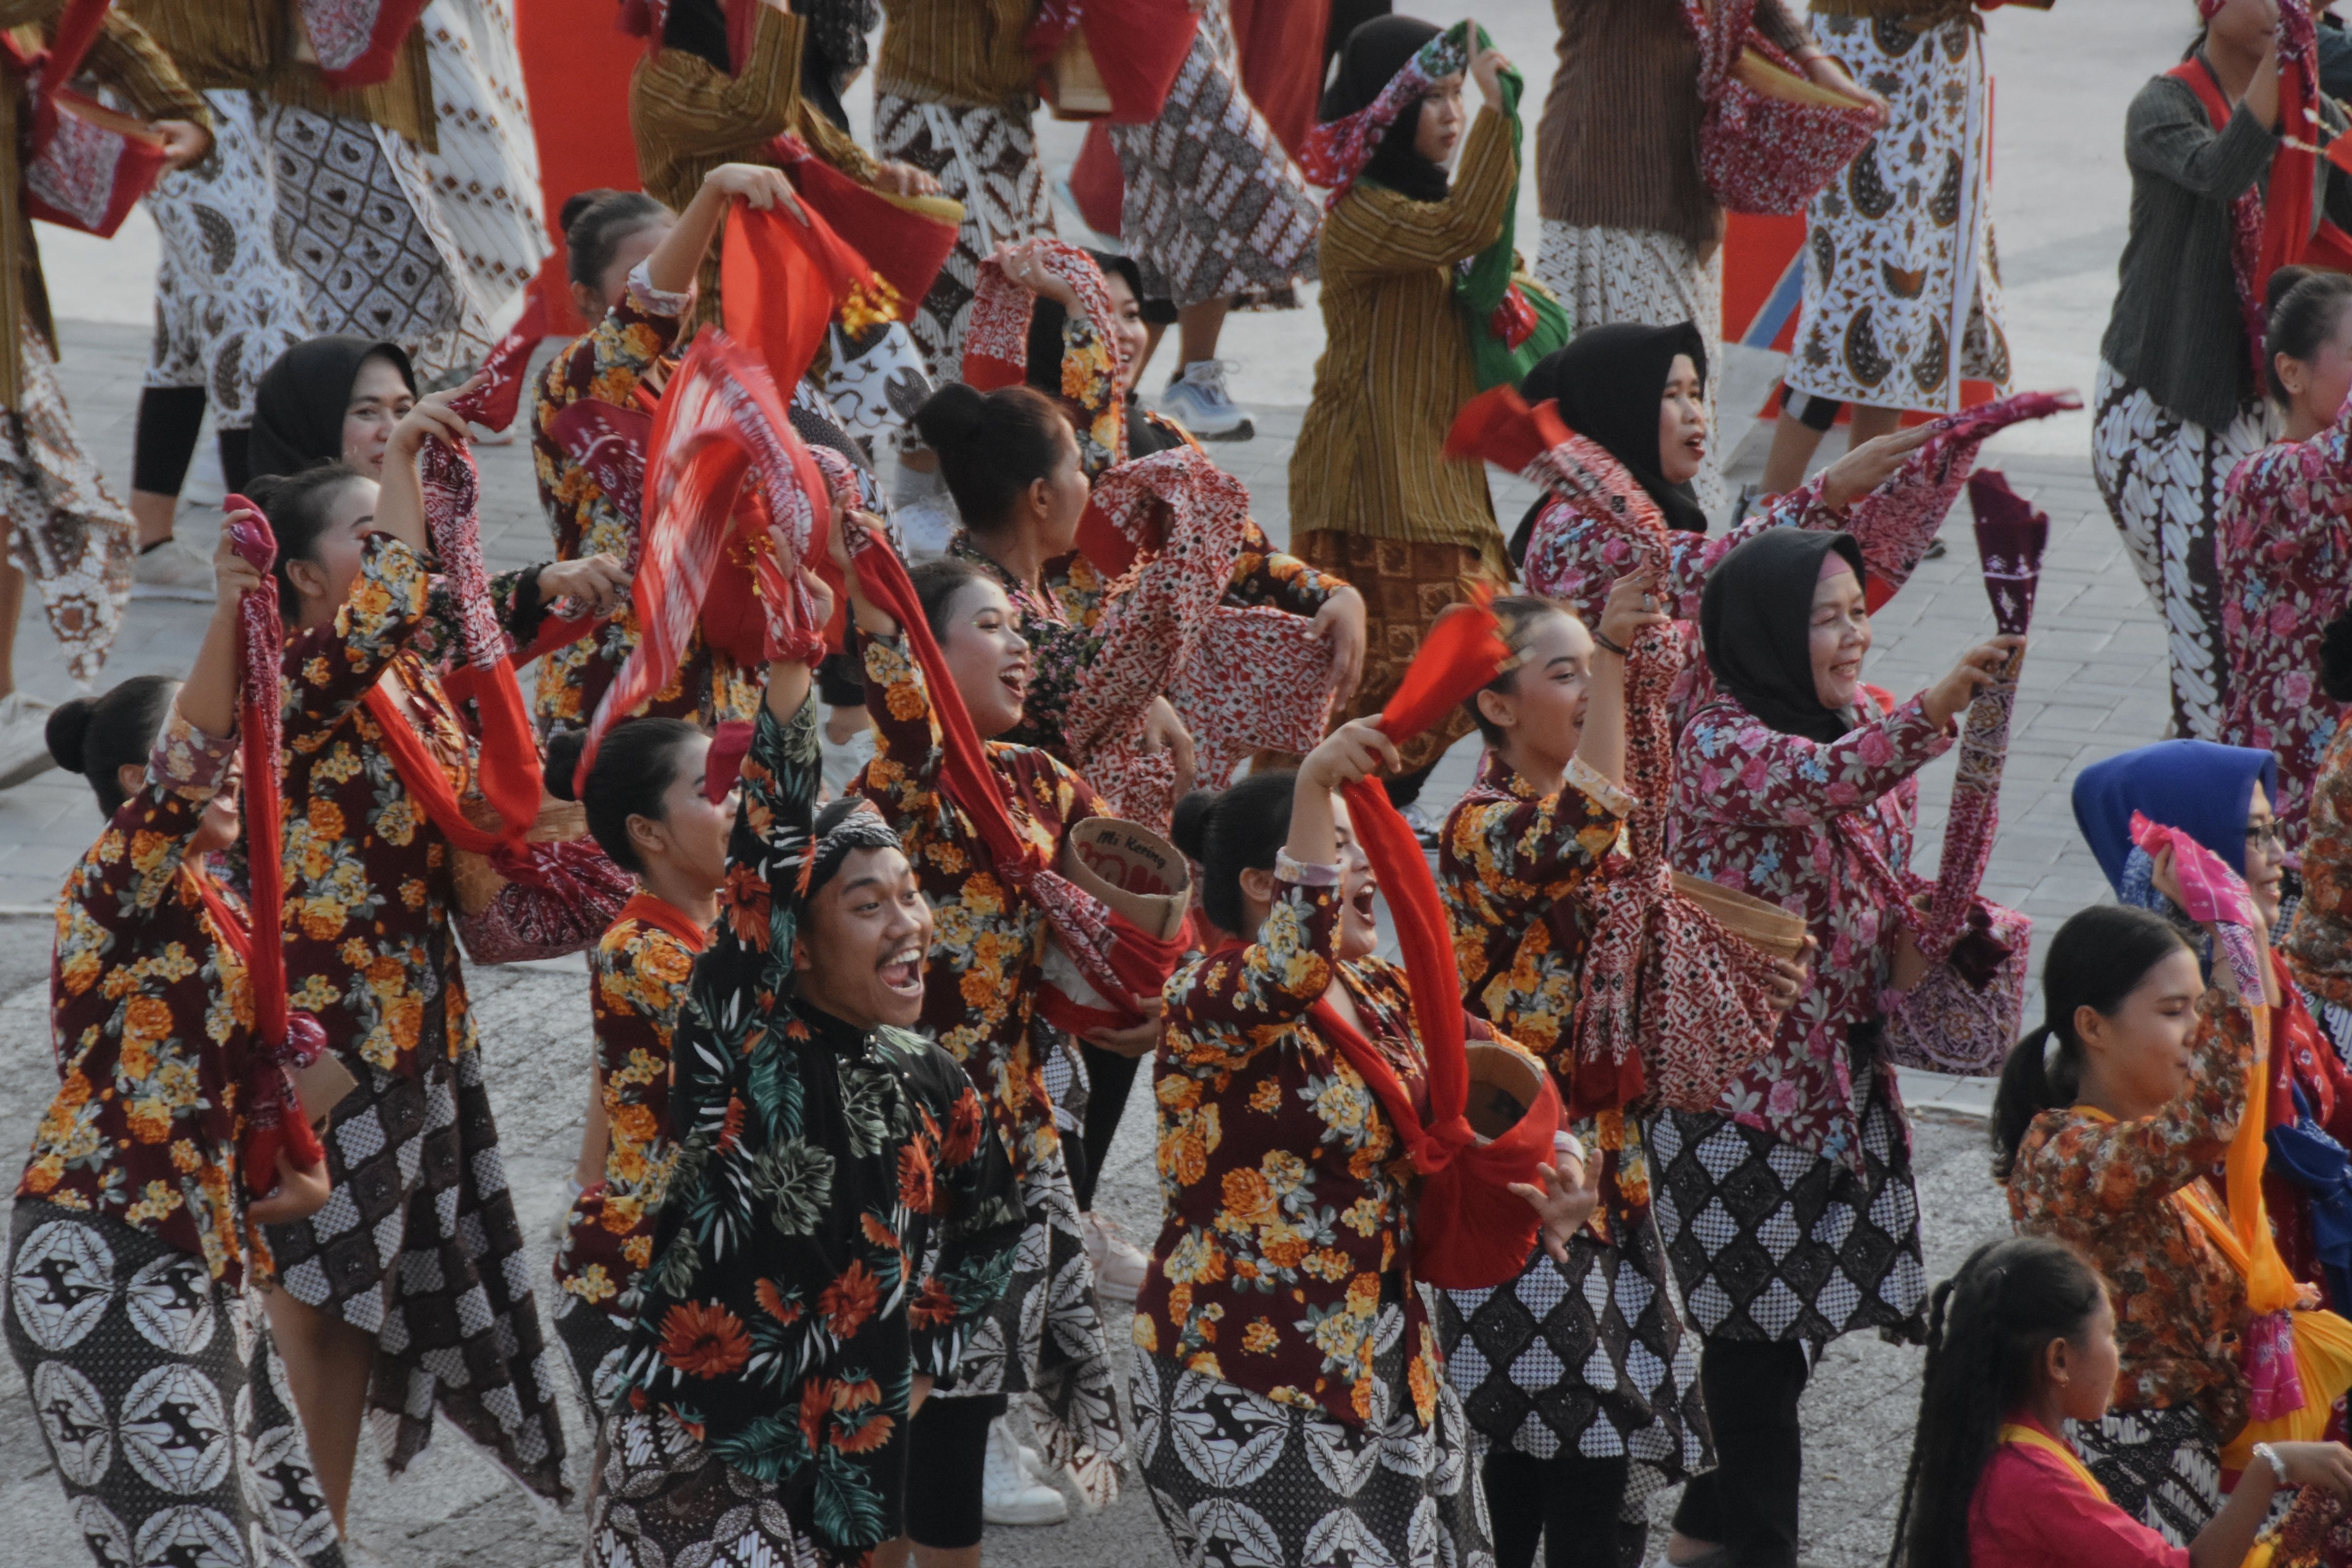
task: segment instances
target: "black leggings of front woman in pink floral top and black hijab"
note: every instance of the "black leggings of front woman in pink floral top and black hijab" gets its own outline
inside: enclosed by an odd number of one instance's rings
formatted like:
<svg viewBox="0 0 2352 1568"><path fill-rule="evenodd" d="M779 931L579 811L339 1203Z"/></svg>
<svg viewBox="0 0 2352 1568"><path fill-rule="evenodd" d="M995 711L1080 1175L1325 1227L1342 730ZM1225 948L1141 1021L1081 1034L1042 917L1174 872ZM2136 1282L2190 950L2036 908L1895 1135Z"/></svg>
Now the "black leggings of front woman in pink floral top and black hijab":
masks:
<svg viewBox="0 0 2352 1568"><path fill-rule="evenodd" d="M1733 1568L1797 1563L1797 1490L1804 1483L1797 1399L1809 1375L1802 1342L1708 1340L1698 1352L1715 1469L1684 1488L1675 1528L1691 1540L1722 1542Z"/></svg>

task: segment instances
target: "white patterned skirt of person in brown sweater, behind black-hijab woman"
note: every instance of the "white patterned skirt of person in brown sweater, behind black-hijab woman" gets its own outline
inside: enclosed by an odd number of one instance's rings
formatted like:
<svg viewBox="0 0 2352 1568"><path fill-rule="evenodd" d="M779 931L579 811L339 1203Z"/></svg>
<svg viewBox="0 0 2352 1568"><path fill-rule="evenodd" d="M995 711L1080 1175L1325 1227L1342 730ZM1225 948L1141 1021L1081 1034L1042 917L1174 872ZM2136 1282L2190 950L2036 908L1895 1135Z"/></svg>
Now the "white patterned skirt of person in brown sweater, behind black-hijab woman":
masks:
<svg viewBox="0 0 2352 1568"><path fill-rule="evenodd" d="M1543 219L1536 244L1536 282L1552 292L1569 315L1569 336L1585 327L1635 322L1642 327L1698 327L1708 364L1708 428L1715 430L1715 395L1724 383L1724 247L1700 256L1689 240L1653 228L1599 228ZM1724 515L1724 461L1708 447L1691 477L1708 517Z"/></svg>

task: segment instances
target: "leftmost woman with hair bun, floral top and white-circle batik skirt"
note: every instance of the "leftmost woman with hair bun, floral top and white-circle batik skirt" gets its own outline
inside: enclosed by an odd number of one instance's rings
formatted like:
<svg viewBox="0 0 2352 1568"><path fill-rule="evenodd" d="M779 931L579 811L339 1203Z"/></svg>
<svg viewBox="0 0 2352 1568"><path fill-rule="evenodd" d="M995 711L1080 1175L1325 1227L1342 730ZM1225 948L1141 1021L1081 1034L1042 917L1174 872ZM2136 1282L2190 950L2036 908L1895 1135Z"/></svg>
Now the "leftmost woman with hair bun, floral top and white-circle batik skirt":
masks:
<svg viewBox="0 0 2352 1568"><path fill-rule="evenodd" d="M49 717L108 827L56 912L64 1081L16 1187L7 1342L99 1563L228 1540L341 1568L261 1316L259 1227L320 1208L327 1171L308 1128L249 1164L256 1107L301 1110L254 1032L247 912L214 863L238 839L238 599L261 583L226 529L214 571L186 684L141 675Z"/></svg>

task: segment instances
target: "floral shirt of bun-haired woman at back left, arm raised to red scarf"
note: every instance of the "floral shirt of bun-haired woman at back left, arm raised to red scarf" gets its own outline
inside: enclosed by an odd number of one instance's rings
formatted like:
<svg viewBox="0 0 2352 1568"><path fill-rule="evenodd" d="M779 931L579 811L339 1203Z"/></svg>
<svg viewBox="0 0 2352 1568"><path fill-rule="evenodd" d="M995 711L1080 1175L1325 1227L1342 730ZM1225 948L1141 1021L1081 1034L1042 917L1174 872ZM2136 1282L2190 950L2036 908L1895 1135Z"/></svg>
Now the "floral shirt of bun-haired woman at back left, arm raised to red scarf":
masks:
<svg viewBox="0 0 2352 1568"><path fill-rule="evenodd" d="M652 284L640 263L628 275L621 303L557 353L539 378L532 397L532 465L539 473L539 505L548 508L548 529L555 534L555 559L574 562L588 555L637 559L637 527L630 512L623 512L595 475L555 444L548 425L581 397L623 409L637 407L637 388L666 364L691 303L691 289L666 294ZM541 658L539 689L532 696L539 726L583 729L604 689L619 679L621 665L637 649L637 611L621 604L595 632ZM694 719L703 726L750 719L762 691L757 670L736 665L696 630L687 637L670 684L637 715Z"/></svg>

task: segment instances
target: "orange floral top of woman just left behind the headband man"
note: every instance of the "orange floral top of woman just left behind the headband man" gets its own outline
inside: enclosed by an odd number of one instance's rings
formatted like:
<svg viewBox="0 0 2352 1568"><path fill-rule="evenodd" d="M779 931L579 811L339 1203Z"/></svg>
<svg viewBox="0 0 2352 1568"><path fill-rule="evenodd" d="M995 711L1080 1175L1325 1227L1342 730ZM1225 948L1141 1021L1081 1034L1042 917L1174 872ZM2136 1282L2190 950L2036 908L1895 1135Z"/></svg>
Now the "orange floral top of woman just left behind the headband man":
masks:
<svg viewBox="0 0 2352 1568"><path fill-rule="evenodd" d="M689 924L687 914L677 914ZM670 1037L701 945L623 912L590 954L588 1011L604 1074L604 1180L572 1204L555 1284L628 1328L621 1298L654 1258L654 1211L677 1150L670 1114Z"/></svg>

